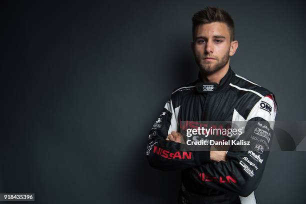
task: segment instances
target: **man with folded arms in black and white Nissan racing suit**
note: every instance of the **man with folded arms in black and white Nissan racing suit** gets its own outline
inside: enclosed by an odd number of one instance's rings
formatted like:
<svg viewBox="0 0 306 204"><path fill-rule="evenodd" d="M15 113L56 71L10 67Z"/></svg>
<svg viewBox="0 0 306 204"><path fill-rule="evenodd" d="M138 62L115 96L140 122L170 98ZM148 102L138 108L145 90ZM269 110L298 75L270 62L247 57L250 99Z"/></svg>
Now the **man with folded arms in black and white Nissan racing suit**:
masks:
<svg viewBox="0 0 306 204"><path fill-rule="evenodd" d="M231 70L229 57L238 41L226 11L207 7L193 15L192 25L198 79L172 92L149 132L147 159L157 169L181 170L179 203L256 203L253 191L268 156L261 150L269 148L264 144L270 142L276 115L274 95ZM247 151L182 151L181 121L244 121L240 137L253 139L255 146Z"/></svg>

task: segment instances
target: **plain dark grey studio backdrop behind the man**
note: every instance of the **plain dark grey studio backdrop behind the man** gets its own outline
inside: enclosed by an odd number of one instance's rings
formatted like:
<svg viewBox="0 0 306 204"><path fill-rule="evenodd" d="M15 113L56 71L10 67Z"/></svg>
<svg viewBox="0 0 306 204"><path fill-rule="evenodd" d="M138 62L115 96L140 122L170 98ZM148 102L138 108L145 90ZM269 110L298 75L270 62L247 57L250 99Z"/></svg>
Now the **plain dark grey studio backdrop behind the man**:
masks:
<svg viewBox="0 0 306 204"><path fill-rule="evenodd" d="M9 1L1 9L0 192L36 203L174 203L179 172L149 167L147 133L196 78L191 16L226 9L232 69L305 120L302 1ZM4 29L3 29L4 28ZM305 152L271 152L259 203L302 203Z"/></svg>

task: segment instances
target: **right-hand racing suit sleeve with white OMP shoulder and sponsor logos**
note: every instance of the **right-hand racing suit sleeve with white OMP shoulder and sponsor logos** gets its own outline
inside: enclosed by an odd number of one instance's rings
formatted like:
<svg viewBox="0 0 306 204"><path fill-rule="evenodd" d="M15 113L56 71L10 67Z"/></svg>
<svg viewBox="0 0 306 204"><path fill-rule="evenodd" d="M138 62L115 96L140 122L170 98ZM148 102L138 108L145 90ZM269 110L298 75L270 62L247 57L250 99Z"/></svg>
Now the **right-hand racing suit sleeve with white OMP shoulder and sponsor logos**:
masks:
<svg viewBox="0 0 306 204"><path fill-rule="evenodd" d="M248 196L262 177L275 115L276 103L272 96L260 98L250 110L244 132L239 137L253 145L248 150L241 151L229 148L226 161L212 161L192 167L191 178L200 185Z"/></svg>

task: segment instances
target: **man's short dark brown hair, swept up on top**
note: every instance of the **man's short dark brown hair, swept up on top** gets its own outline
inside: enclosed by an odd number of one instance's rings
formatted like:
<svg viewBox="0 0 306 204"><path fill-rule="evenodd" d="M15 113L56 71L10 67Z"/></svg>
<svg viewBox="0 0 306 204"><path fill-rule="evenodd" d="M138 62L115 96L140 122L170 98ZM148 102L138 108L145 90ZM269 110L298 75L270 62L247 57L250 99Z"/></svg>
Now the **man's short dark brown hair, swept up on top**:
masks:
<svg viewBox="0 0 306 204"><path fill-rule="evenodd" d="M194 30L196 26L211 22L224 22L229 30L230 41L235 39L234 23L231 16L223 9L216 7L206 7L193 14L192 17L192 37L194 38Z"/></svg>

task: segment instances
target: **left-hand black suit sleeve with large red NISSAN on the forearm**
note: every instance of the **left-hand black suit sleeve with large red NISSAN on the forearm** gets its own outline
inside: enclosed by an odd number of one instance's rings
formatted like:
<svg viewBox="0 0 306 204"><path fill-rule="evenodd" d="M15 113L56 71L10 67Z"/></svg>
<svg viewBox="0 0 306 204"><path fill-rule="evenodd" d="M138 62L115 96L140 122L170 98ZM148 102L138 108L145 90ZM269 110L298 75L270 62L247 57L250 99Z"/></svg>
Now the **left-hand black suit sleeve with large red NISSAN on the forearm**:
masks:
<svg viewBox="0 0 306 204"><path fill-rule="evenodd" d="M182 170L210 161L209 151L182 151L185 144L165 140L171 131L179 129L178 108L174 108L172 99L169 99L149 131L146 156L153 168Z"/></svg>

